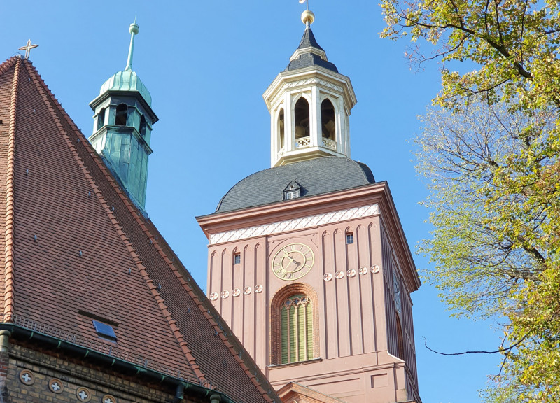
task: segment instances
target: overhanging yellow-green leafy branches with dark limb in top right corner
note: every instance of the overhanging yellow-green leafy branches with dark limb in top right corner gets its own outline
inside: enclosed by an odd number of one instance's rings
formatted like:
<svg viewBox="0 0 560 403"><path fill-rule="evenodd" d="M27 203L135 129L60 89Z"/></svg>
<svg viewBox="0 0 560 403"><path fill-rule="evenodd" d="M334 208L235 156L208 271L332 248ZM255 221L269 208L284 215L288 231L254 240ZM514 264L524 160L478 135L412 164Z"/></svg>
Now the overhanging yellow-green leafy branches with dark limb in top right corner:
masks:
<svg viewBox="0 0 560 403"><path fill-rule="evenodd" d="M517 97L519 107L560 104L560 9L554 0L382 0L388 27L381 36L410 36L435 45L434 54L419 48L414 62L474 62L478 69L460 74L442 69L437 101L455 104L479 92L504 99ZM513 106L513 105L511 105Z"/></svg>

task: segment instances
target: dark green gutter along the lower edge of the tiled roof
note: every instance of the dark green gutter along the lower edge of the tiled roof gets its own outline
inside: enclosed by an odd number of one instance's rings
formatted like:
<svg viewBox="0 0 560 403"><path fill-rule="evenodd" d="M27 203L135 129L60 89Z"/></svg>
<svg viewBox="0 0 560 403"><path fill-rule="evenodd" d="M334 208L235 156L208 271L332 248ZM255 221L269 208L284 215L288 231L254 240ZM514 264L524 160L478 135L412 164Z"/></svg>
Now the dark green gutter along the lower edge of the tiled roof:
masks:
<svg viewBox="0 0 560 403"><path fill-rule="evenodd" d="M62 350L78 358L87 358L87 360L92 362L102 363L123 374L145 376L151 381L162 383L165 386L174 388L176 390L174 402L181 402L185 391L188 390L189 395L195 395L201 400L207 400L211 403L237 403L228 395L225 395L225 393L204 388L204 386L190 383L188 381L184 381L183 379L175 378L174 376L168 376L166 374L162 374L161 372L154 371L153 369L134 365L132 362L111 357L111 355L99 353L91 348L78 346L77 344L70 343L69 341L57 339L56 337L51 337L34 330L30 330L27 329L27 327L15 325L14 323L0 323L0 352L8 351L8 339L10 337L21 340L37 341L43 346L49 346L55 350Z"/></svg>

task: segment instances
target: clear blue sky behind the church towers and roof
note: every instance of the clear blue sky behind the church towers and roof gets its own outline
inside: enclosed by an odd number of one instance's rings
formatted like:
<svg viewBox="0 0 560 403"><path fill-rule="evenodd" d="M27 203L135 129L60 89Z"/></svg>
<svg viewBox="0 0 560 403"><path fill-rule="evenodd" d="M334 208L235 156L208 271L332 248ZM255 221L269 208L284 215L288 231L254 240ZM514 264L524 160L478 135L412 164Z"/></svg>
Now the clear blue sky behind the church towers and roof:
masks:
<svg viewBox="0 0 560 403"><path fill-rule="evenodd" d="M269 114L262 93L289 62L304 31L297 0L246 1L1 1L0 58L28 38L31 61L86 136L88 106L99 87L125 68L128 27L137 17L137 71L160 118L152 136L146 209L203 288L207 239L195 220L212 213L245 176L270 167ZM376 1L311 0L312 29L330 62L351 78L358 98L350 118L351 157L377 181L388 181L414 251L429 236L426 190L414 171L420 132L416 116L440 90L440 65L411 69L406 40L379 38ZM461 66L459 66L461 67ZM421 255L416 267L429 267ZM420 395L424 403L479 402L500 358L442 357L439 351L494 350L499 332L488 321L449 318L437 292L412 295Z"/></svg>

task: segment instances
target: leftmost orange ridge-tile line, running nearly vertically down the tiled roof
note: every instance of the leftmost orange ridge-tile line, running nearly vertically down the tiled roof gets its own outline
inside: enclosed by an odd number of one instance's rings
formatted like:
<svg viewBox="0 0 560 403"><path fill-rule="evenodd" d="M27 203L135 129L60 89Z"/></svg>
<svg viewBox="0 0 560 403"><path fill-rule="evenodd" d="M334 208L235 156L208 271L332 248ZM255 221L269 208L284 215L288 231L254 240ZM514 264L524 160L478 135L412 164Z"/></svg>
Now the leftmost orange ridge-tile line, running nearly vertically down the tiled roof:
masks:
<svg viewBox="0 0 560 403"><path fill-rule="evenodd" d="M8 128L8 164L6 169L6 234L4 247L4 306L3 314L6 321L11 321L14 313L14 264L13 264L13 236L14 236L14 167L15 167L15 118L18 106L18 87L20 83L21 58L13 57L15 69L13 72L12 94L10 97L10 126ZM4 66L5 64L2 64ZM12 64L13 66L13 64ZM6 70L1 71L4 73Z"/></svg>

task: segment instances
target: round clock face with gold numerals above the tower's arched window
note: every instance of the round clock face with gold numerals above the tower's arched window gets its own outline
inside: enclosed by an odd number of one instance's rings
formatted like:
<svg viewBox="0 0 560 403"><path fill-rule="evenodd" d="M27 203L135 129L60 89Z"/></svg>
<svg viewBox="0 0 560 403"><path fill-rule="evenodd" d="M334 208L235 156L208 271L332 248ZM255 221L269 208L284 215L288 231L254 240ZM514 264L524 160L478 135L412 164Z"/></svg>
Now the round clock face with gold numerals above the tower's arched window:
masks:
<svg viewBox="0 0 560 403"><path fill-rule="evenodd" d="M297 280L305 276L315 262L313 250L304 243L290 243L284 246L270 262L272 272L281 280Z"/></svg>

